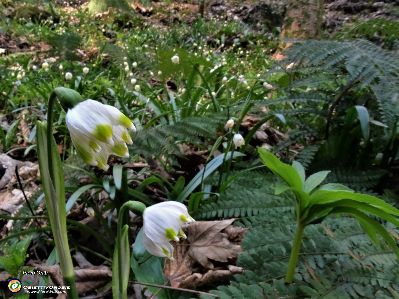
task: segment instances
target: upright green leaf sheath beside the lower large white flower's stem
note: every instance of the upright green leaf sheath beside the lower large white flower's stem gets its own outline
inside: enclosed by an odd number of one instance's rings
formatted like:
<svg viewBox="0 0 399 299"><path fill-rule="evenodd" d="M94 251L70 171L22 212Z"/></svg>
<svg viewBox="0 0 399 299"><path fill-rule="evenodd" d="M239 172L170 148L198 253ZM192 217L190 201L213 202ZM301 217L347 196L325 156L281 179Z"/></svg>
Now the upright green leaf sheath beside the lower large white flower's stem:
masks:
<svg viewBox="0 0 399 299"><path fill-rule="evenodd" d="M129 246L129 226L126 224L121 232L121 244L117 244L114 250L114 258L112 260L112 293L114 298L127 298L127 285L129 282L130 272L130 246ZM118 246L121 249L122 269L118 264ZM122 274L120 276L120 274ZM120 280L122 280L122 289L120 288Z"/></svg>

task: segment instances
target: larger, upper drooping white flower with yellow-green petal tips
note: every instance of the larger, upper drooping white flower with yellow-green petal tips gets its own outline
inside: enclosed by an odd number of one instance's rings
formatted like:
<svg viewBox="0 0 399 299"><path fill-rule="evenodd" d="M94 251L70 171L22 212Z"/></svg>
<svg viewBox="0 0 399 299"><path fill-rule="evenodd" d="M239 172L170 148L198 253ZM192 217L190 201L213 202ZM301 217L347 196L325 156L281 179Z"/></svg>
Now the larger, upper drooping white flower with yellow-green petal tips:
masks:
<svg viewBox="0 0 399 299"><path fill-rule="evenodd" d="M136 128L114 106L87 99L68 109L65 121L72 143L86 163L107 171L109 155L129 156L126 143L132 144L132 138L126 128L133 132Z"/></svg>

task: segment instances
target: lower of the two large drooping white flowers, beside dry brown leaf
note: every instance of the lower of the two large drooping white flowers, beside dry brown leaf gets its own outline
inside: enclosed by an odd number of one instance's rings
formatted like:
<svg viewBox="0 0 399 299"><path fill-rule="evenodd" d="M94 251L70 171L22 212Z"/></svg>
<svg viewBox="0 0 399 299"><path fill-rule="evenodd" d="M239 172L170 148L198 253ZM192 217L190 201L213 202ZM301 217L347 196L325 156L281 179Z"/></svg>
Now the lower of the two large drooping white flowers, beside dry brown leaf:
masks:
<svg viewBox="0 0 399 299"><path fill-rule="evenodd" d="M143 245L154 256L173 260L173 246L169 242L186 238L181 226L195 222L187 208L177 201L157 203L143 213Z"/></svg>

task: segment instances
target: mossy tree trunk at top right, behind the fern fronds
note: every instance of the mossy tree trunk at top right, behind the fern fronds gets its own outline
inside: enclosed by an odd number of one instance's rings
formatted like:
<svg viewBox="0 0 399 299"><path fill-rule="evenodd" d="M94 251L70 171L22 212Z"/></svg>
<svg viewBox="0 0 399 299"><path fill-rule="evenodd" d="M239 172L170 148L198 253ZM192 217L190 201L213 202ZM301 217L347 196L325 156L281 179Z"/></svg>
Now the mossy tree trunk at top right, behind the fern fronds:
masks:
<svg viewBox="0 0 399 299"><path fill-rule="evenodd" d="M324 15L324 0L289 0L287 12L282 25L281 38L320 39ZM283 49L290 47L283 43ZM284 55L276 52L275 59Z"/></svg>

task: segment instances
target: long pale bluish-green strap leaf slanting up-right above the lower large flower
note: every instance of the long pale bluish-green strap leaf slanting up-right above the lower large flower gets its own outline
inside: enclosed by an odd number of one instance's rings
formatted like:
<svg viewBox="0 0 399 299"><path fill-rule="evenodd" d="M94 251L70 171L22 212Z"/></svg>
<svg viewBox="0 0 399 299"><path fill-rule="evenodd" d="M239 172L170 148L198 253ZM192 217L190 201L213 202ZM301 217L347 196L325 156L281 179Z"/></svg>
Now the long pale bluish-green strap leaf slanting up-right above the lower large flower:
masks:
<svg viewBox="0 0 399 299"><path fill-rule="evenodd" d="M245 156L245 155L238 151L234 151L233 155L231 155L231 154L227 155L226 160L228 160L230 158L232 159L235 157L239 157L239 156ZM182 193L180 193L178 198L176 198L176 201L178 201L180 203L182 201L184 201L184 199L186 199L188 197L188 195L190 195L190 193L192 193L194 191L194 189L196 189L196 187L199 184L201 184L202 179L205 179L206 177L208 177L208 175L210 175L217 167L219 167L223 163L223 158L224 158L224 155L218 155L216 158L212 159L209 163L207 163L205 165L205 167L203 169L201 169L197 173L197 175L190 181L190 183L188 183L186 188L184 188Z"/></svg>

